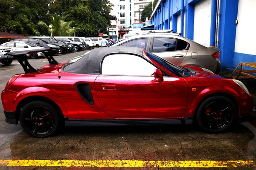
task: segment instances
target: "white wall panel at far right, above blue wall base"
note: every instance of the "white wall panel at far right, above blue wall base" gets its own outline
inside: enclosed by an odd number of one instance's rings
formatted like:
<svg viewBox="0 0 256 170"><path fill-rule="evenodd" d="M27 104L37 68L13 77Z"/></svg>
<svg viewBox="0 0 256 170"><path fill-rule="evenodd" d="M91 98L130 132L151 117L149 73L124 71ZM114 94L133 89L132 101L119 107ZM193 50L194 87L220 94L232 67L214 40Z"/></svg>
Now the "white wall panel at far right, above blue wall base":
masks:
<svg viewBox="0 0 256 170"><path fill-rule="evenodd" d="M256 55L256 0L239 0L238 8L235 52Z"/></svg>

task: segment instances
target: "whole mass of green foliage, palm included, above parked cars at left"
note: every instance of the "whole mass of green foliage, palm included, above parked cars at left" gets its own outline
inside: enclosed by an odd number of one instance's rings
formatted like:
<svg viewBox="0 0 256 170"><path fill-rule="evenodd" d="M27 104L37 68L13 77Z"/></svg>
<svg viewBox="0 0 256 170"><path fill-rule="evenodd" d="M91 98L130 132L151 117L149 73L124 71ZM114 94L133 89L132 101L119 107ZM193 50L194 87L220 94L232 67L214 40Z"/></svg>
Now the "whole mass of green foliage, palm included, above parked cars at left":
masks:
<svg viewBox="0 0 256 170"><path fill-rule="evenodd" d="M0 27L19 34L108 34L111 25L109 0L0 0ZM53 16L53 17L52 17ZM51 21L52 18L52 21Z"/></svg>

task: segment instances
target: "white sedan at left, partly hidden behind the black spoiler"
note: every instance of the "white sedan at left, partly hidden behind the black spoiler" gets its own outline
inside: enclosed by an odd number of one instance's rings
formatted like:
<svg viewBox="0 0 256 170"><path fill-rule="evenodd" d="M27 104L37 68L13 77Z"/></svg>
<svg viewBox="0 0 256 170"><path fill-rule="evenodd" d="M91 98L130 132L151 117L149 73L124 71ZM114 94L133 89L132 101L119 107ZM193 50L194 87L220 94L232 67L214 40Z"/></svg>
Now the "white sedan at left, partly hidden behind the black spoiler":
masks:
<svg viewBox="0 0 256 170"><path fill-rule="evenodd" d="M39 47L35 44L32 44L30 42L25 42L25 41L11 41L11 42L5 42L1 45L7 46L7 47L12 47L12 51L25 51L25 50L38 50L38 49L45 49L44 47ZM36 59L37 57L42 57L44 54L42 52L40 53L32 53L28 54L29 57L32 59Z"/></svg>

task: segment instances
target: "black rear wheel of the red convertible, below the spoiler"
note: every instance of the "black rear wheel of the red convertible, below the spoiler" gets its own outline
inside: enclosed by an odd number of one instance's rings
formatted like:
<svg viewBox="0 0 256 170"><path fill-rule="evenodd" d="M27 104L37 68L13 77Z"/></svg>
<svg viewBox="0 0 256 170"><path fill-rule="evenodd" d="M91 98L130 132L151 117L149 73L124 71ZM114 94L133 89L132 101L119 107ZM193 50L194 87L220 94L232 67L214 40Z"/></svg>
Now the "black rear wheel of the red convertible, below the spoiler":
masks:
<svg viewBox="0 0 256 170"><path fill-rule="evenodd" d="M48 137L57 133L60 116L47 102L34 101L26 104L20 111L20 125L34 137Z"/></svg>

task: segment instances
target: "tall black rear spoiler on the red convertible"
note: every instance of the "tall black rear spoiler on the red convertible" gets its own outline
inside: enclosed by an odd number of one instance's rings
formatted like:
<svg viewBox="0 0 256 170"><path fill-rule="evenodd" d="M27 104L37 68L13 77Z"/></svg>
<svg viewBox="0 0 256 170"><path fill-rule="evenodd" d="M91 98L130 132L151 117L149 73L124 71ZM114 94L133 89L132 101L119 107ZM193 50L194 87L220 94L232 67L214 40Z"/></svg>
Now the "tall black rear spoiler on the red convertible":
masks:
<svg viewBox="0 0 256 170"><path fill-rule="evenodd" d="M52 56L58 52L56 49L38 49L38 50L26 50L26 51L16 51L16 52L8 52L8 55L13 56L17 61L20 63L20 65L23 67L25 73L36 73L39 72L35 68L33 68L27 59L26 54L32 54L32 53L44 53L45 57L48 59L49 65L57 65L59 64Z"/></svg>

